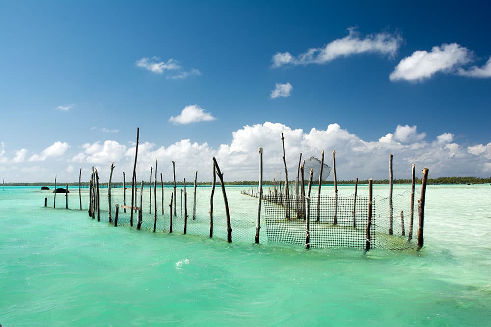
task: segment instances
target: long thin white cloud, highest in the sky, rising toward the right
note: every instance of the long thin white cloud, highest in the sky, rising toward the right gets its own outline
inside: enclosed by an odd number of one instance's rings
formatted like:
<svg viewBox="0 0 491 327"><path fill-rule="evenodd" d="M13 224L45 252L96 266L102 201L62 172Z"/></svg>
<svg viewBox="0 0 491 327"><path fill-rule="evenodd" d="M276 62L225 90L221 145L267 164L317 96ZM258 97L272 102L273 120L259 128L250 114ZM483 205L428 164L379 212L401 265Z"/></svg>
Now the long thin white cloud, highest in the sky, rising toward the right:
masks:
<svg viewBox="0 0 491 327"><path fill-rule="evenodd" d="M289 52L278 52L271 59L272 67L278 68L283 65L306 65L311 63L322 64L338 57L348 57L363 53L394 56L402 43L402 37L399 34L381 32L368 34L361 38L355 28L349 28L348 32L349 34L341 39L331 41L322 48L310 48L297 57L292 56Z"/></svg>

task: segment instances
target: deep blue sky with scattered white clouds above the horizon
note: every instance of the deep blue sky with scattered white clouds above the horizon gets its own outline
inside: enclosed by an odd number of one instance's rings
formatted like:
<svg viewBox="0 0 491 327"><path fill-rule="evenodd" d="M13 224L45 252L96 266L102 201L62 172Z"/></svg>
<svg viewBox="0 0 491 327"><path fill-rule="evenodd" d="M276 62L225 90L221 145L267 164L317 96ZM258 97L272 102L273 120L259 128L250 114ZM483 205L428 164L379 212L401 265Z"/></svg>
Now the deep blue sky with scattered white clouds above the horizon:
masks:
<svg viewBox="0 0 491 327"><path fill-rule="evenodd" d="M394 2L3 1L0 178L129 170L136 126L142 174L175 156L192 175L217 155L231 179L254 178L257 153L244 153L257 146L271 146L274 174L284 131L292 166L337 148L343 179L385 177L366 158L389 152L400 175L412 161L489 177L489 6ZM179 157L188 139L205 154Z"/></svg>

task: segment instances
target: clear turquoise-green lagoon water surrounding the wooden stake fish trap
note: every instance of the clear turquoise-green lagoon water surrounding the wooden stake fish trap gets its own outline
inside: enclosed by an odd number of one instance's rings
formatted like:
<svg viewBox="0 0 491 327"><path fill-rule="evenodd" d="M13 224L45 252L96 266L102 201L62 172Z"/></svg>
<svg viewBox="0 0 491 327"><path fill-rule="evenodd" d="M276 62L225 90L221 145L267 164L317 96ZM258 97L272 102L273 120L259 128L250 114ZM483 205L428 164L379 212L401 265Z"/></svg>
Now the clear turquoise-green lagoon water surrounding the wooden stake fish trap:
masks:
<svg viewBox="0 0 491 327"><path fill-rule="evenodd" d="M253 215L240 189L233 210ZM491 185L428 186L423 249L366 254L114 228L46 195L0 190L3 327L491 326Z"/></svg>

